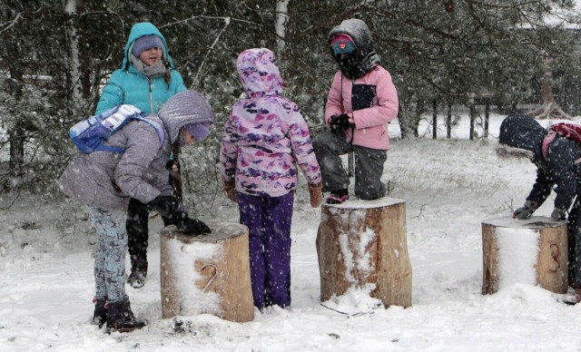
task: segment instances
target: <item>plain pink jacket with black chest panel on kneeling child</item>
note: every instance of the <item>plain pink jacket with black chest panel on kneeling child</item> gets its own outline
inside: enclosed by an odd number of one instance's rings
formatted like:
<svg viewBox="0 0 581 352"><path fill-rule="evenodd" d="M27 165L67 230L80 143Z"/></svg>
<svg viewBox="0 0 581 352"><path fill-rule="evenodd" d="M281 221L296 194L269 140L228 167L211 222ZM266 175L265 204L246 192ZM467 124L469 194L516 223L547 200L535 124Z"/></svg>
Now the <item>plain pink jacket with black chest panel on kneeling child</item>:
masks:
<svg viewBox="0 0 581 352"><path fill-rule="evenodd" d="M366 101L370 106L354 106L353 97ZM389 150L388 122L398 116L398 93L391 82L389 72L376 65L354 81L350 81L340 71L335 73L331 83L325 109L327 124L330 117L347 113L350 121L355 123L352 143L362 147ZM347 140L351 140L351 130L346 133Z"/></svg>

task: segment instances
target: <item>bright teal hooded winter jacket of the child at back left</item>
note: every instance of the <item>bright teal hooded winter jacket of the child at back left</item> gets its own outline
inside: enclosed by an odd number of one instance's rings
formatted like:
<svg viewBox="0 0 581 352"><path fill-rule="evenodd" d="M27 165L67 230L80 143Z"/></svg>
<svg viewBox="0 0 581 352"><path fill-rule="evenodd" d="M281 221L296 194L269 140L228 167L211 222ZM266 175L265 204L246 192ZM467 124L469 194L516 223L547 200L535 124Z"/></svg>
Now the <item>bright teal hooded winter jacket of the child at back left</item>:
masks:
<svg viewBox="0 0 581 352"><path fill-rule="evenodd" d="M144 35L157 35L165 46L163 57L167 61L171 75L170 83L166 83L164 75L148 78L137 71L131 61L131 52L135 40ZM127 44L125 44L123 65L111 75L109 83L103 88L101 99L97 103L96 114L102 113L114 106L132 104L146 113L157 113L163 103L175 93L185 91L182 75L175 70L172 58L168 53L167 42L157 27L151 23L134 24Z"/></svg>

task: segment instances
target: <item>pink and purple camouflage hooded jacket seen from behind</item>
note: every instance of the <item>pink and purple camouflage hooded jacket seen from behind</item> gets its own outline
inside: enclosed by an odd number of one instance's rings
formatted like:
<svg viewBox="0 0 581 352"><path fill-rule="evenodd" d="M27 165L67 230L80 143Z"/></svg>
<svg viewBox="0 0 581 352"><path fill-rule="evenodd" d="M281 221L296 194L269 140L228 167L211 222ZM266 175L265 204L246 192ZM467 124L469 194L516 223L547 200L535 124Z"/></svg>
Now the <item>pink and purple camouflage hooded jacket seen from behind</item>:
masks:
<svg viewBox="0 0 581 352"><path fill-rule="evenodd" d="M269 49L249 49L237 61L247 98L235 103L225 123L221 172L236 191L280 197L296 189L298 169L310 184L320 183L320 168L309 126L299 107L283 98L282 78Z"/></svg>

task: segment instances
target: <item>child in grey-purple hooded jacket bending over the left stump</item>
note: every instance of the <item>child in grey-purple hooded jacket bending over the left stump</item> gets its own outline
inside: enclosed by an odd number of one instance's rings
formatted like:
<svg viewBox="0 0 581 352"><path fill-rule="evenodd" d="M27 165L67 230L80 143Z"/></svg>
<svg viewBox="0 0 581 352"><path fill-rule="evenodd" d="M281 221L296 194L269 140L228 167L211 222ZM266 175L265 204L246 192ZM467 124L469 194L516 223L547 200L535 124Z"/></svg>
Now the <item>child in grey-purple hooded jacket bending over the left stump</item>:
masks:
<svg viewBox="0 0 581 352"><path fill-rule="evenodd" d="M149 210L172 218L178 230L185 233L210 232L202 221L189 218L182 203L172 196L165 169L173 142L201 142L209 134L208 127L213 122L210 104L202 94L185 91L165 103L157 116L149 115L147 119L157 122L161 131L148 122L129 122L106 141L125 152L79 153L59 180L61 191L85 204L92 217L98 236L94 323L101 327L106 321L107 328L114 331L131 331L145 325L134 317L124 289L124 217L129 200L140 200Z"/></svg>

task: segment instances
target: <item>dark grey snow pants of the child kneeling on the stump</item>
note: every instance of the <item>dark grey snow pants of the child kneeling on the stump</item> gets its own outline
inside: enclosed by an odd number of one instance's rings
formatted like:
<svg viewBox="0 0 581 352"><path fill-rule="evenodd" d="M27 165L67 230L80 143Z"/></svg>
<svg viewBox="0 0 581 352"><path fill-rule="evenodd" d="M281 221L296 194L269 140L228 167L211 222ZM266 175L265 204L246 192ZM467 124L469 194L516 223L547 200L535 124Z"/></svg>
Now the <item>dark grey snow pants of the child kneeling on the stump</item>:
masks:
<svg viewBox="0 0 581 352"><path fill-rule="evenodd" d="M349 187L349 175L340 155L355 153L355 195L361 200L375 200L385 196L381 182L383 164L388 152L352 145L344 135L324 132L312 142L323 179L323 191L344 190Z"/></svg>

